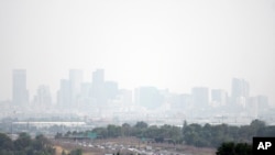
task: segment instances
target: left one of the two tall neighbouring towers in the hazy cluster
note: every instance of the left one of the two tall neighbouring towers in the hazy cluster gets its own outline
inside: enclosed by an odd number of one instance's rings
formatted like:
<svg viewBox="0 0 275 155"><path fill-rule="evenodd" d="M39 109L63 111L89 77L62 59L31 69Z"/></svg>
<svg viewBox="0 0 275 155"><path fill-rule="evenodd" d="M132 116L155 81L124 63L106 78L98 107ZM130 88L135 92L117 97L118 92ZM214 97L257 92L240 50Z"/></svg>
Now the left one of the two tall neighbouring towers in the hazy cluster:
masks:
<svg viewBox="0 0 275 155"><path fill-rule="evenodd" d="M69 96L70 106L76 106L80 98L82 84L82 70L70 69L69 70Z"/></svg>

